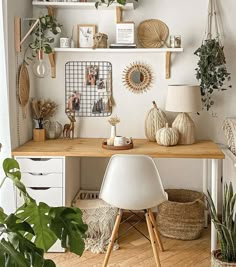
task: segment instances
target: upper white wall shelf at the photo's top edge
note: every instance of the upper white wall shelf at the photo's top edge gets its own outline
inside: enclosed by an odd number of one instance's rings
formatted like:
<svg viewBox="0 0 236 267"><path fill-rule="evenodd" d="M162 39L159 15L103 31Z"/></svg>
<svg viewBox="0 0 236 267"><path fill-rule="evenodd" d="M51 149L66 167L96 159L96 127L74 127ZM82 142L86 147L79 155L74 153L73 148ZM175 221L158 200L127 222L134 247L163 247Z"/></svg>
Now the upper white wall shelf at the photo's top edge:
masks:
<svg viewBox="0 0 236 267"><path fill-rule="evenodd" d="M96 9L95 2L43 2L43 1L33 1L33 6L37 7L54 7L54 8L77 8L77 9ZM125 6L119 4L112 4L109 7L107 5L102 4L98 7L99 9L116 9L116 7L122 7L124 10L132 10L134 9L133 3L127 3Z"/></svg>

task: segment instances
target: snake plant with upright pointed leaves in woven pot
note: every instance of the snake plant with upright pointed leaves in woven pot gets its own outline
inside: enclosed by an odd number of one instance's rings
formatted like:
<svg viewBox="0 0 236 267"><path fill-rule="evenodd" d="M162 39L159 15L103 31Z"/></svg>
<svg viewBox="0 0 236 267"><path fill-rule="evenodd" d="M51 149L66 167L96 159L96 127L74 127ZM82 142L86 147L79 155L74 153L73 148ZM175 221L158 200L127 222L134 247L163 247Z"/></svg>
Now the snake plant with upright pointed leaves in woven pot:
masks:
<svg viewBox="0 0 236 267"><path fill-rule="evenodd" d="M215 205L208 192L207 203L211 220L214 223L220 242L220 249L212 252L213 267L236 266L236 193L232 183L225 184L223 194L222 220L219 220Z"/></svg>

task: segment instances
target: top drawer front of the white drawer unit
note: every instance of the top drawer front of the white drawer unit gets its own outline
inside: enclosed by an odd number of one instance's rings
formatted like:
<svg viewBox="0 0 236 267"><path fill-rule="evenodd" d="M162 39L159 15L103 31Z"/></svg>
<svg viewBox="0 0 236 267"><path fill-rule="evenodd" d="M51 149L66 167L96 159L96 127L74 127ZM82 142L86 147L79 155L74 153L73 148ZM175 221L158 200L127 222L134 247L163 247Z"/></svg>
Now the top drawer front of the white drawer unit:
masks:
<svg viewBox="0 0 236 267"><path fill-rule="evenodd" d="M63 172L62 158L16 158L21 172L29 173L61 173Z"/></svg>

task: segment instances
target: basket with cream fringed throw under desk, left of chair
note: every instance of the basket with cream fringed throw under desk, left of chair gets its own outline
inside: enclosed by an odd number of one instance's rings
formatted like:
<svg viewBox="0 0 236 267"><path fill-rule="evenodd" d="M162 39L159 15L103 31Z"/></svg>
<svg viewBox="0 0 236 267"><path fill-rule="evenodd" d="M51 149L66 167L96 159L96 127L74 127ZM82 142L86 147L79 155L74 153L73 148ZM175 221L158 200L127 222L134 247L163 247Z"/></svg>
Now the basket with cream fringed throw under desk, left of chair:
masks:
<svg viewBox="0 0 236 267"><path fill-rule="evenodd" d="M72 206L83 212L88 225L85 249L93 253L105 253L115 224L118 209L99 199L99 191L80 190ZM118 249L115 244L114 249Z"/></svg>

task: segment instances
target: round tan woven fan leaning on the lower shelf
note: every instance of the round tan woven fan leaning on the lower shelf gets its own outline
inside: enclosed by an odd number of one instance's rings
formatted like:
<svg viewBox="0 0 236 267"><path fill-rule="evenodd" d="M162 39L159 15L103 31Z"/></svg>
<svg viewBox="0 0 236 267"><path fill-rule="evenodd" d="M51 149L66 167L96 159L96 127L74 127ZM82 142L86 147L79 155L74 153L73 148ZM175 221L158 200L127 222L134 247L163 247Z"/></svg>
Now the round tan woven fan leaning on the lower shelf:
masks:
<svg viewBox="0 0 236 267"><path fill-rule="evenodd" d="M167 25L158 19L144 20L138 26L138 41L145 48L162 47L168 35Z"/></svg>

